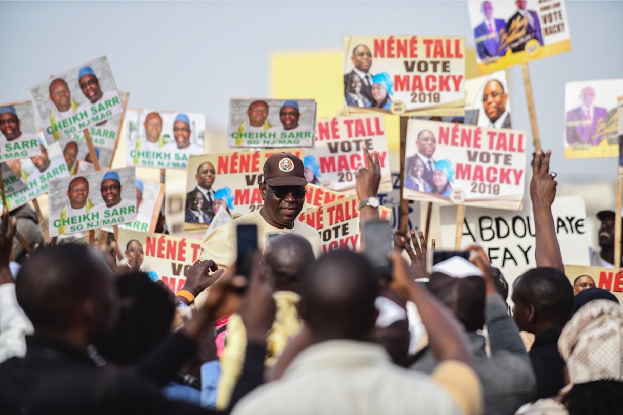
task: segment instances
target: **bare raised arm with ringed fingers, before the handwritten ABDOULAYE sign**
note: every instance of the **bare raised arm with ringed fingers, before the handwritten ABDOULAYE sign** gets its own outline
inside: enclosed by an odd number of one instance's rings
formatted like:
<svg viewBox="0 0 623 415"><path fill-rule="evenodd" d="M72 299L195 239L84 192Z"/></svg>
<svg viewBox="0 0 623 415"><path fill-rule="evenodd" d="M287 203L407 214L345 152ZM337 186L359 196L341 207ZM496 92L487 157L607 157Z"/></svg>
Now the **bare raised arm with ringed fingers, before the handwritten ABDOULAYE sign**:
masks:
<svg viewBox="0 0 623 415"><path fill-rule="evenodd" d="M551 213L551 204L556 197L556 173L549 173L549 157L538 151L532 163L532 180L530 182L530 198L535 217L536 233L536 266L556 268L564 273L563 256L556 238L556 226Z"/></svg>

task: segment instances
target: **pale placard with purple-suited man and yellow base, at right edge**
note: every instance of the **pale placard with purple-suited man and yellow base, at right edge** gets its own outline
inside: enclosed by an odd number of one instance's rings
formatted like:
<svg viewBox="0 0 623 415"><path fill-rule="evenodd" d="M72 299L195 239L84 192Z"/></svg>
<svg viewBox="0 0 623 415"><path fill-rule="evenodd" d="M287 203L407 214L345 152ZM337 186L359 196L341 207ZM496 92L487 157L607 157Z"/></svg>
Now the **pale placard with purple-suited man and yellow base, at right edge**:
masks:
<svg viewBox="0 0 623 415"><path fill-rule="evenodd" d="M623 79L564 84L564 157L617 157Z"/></svg>

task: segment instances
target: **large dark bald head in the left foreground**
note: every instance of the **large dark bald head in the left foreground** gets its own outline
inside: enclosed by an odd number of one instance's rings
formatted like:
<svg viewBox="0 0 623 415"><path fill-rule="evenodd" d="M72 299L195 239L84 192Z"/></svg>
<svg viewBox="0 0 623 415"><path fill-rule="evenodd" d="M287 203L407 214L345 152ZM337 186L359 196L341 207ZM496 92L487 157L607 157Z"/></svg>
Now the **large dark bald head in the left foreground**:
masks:
<svg viewBox="0 0 623 415"><path fill-rule="evenodd" d="M62 337L80 328L90 338L112 326L113 274L86 246L35 251L19 270L15 290L35 332Z"/></svg>

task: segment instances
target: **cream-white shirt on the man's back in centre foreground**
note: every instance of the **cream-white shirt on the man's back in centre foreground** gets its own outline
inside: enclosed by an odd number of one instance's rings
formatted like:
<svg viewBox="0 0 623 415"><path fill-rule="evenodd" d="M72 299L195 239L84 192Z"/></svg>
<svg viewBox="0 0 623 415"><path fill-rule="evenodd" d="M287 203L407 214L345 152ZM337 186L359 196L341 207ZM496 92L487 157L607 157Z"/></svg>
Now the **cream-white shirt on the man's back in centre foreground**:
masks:
<svg viewBox="0 0 623 415"><path fill-rule="evenodd" d="M232 414L460 413L444 386L394 365L381 346L330 340L303 350L280 380L245 396Z"/></svg>

